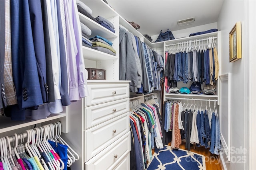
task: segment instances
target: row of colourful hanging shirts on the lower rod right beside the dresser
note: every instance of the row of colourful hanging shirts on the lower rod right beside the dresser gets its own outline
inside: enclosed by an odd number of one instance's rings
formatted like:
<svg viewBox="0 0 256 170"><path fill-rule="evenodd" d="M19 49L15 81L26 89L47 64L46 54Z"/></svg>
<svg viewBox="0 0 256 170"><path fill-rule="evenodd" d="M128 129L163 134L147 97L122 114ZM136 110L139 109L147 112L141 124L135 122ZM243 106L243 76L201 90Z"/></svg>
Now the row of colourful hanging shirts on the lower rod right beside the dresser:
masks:
<svg viewBox="0 0 256 170"><path fill-rule="evenodd" d="M164 148L158 112L160 113L159 104L153 100L130 108L131 134L133 135L132 140L134 140L132 147L139 149L135 153L132 151L132 154L136 156L136 169L145 169L146 161L151 161L153 158L152 149L155 146L158 149ZM130 159L132 161L133 158ZM143 160L144 166L139 160Z"/></svg>

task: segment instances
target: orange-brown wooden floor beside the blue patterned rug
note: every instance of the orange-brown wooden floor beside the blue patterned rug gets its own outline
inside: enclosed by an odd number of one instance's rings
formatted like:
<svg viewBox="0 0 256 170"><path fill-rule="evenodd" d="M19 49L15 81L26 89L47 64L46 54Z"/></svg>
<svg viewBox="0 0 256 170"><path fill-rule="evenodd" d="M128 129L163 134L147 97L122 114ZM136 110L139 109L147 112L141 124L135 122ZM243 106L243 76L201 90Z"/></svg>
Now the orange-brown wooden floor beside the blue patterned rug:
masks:
<svg viewBox="0 0 256 170"><path fill-rule="evenodd" d="M182 144L180 145L180 149L186 150L185 143L182 142ZM204 147L194 147L193 145L193 147L190 147L190 151L205 156L206 170L222 170L222 163L219 156L211 154L211 152L209 152L209 149L205 149ZM154 153L153 150L152 153Z"/></svg>

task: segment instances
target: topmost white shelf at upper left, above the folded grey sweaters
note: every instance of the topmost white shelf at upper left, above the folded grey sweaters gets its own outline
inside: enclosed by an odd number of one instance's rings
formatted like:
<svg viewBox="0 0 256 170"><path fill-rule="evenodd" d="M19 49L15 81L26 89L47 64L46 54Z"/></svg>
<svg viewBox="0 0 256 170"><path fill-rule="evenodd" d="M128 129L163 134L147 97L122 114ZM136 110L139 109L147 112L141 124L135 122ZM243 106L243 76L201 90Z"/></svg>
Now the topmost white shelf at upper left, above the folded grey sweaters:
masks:
<svg viewBox="0 0 256 170"><path fill-rule="evenodd" d="M103 16L106 19L118 16L118 13L113 10L108 4L103 0L81 0L92 10L92 16L96 18L97 16Z"/></svg>

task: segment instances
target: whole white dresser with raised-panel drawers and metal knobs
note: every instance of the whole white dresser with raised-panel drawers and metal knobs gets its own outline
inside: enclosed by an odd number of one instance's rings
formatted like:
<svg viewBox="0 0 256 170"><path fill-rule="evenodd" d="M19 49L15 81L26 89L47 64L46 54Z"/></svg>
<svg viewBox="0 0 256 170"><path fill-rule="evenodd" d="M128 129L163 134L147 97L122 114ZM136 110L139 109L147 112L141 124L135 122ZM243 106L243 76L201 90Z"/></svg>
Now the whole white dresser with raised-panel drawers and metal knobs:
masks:
<svg viewBox="0 0 256 170"><path fill-rule="evenodd" d="M88 80L90 96L69 107L69 133L63 134L79 160L75 170L129 170L129 82Z"/></svg>

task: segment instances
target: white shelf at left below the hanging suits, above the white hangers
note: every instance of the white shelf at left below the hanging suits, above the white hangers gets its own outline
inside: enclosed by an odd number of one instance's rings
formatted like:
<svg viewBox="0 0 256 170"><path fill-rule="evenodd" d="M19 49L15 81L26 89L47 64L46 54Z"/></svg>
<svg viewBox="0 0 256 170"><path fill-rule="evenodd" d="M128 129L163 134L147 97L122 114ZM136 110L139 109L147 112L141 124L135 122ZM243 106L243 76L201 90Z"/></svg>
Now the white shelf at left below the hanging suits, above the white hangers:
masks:
<svg viewBox="0 0 256 170"><path fill-rule="evenodd" d="M12 121L10 119L10 117L1 116L0 117L0 133L20 129L22 127L35 125L37 123L43 123L46 121L59 119L61 117L65 117L65 116L66 116L66 113L58 113L58 114L51 114L46 119L40 119L40 120L26 119L24 121Z"/></svg>

